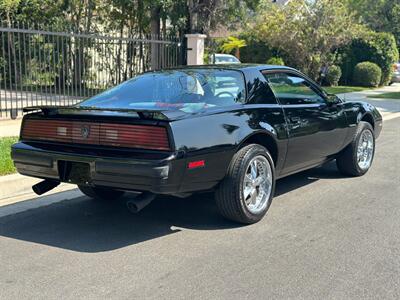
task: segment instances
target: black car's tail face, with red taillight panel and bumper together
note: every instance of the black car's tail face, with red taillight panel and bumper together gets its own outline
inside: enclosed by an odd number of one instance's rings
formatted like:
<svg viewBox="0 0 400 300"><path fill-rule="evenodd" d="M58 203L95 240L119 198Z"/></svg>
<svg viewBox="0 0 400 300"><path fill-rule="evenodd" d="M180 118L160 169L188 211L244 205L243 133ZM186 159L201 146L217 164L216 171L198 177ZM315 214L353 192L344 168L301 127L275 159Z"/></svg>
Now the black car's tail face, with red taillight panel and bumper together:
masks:
<svg viewBox="0 0 400 300"><path fill-rule="evenodd" d="M27 176L158 194L176 192L184 170L167 120L118 112L28 114L12 158Z"/></svg>

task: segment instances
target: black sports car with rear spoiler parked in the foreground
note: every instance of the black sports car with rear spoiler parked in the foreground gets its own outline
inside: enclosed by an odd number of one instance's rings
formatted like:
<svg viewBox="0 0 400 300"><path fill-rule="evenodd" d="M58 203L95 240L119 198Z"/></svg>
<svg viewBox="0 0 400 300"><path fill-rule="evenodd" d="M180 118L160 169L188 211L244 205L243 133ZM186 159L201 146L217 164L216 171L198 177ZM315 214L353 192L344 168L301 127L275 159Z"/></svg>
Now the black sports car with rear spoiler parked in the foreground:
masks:
<svg viewBox="0 0 400 300"><path fill-rule="evenodd" d="M215 191L221 214L259 221L275 180L336 159L365 174L382 117L287 67L197 66L148 72L78 105L26 108L12 147L19 173L138 211L157 194Z"/></svg>

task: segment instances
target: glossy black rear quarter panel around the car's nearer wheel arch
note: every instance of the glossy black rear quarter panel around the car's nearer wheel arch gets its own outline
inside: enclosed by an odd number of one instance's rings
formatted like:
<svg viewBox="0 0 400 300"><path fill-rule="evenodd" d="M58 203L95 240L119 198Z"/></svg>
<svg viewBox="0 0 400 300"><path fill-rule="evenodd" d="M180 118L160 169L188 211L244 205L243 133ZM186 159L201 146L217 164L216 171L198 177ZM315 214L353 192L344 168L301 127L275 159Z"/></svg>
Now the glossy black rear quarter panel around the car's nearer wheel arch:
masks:
<svg viewBox="0 0 400 300"><path fill-rule="evenodd" d="M205 161L204 167L186 167L181 192L216 185L224 178L233 155L254 134L274 138L279 153L276 168L283 165L287 134L278 105L245 104L229 111L174 121L170 126L176 150L185 153L186 166L191 161Z"/></svg>

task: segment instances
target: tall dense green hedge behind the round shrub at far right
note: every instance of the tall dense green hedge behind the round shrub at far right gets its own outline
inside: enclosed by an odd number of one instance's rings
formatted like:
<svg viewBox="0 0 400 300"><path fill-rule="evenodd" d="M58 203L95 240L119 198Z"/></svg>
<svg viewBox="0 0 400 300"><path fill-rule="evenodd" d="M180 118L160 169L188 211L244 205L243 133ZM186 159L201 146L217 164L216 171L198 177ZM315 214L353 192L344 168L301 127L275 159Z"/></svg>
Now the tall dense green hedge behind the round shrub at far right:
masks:
<svg viewBox="0 0 400 300"><path fill-rule="evenodd" d="M382 70L380 85L387 85L390 82L393 63L399 60L399 52L394 36L386 32L371 32L364 38L358 38L341 49L342 57L341 68L343 76L341 83L349 84L352 82L355 66L360 62L370 61L377 64Z"/></svg>

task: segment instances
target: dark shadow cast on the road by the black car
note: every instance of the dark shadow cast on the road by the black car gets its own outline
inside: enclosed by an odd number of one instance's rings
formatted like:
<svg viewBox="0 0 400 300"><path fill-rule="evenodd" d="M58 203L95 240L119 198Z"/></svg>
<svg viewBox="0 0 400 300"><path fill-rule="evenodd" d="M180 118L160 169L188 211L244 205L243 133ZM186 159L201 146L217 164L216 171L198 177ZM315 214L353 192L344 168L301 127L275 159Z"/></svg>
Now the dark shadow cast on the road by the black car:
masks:
<svg viewBox="0 0 400 300"><path fill-rule="evenodd" d="M313 169L277 182L283 195L319 178L340 178L332 166ZM119 200L81 196L0 218L0 235L78 252L102 252L175 234L183 229L233 229L241 225L222 218L212 194L186 199L158 197L138 214ZM1 208L0 208L1 210Z"/></svg>

